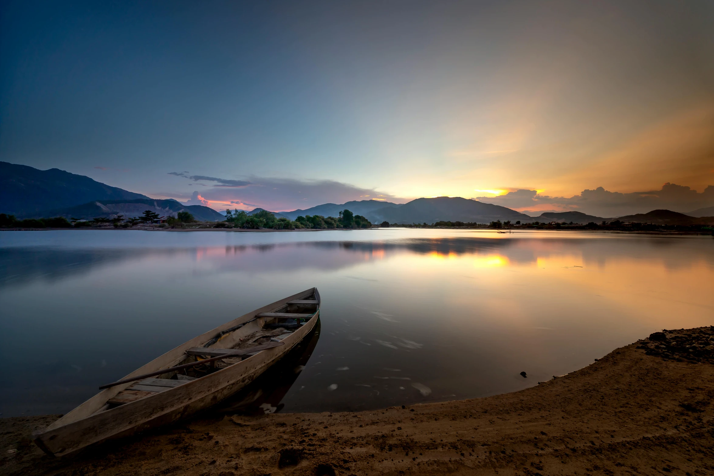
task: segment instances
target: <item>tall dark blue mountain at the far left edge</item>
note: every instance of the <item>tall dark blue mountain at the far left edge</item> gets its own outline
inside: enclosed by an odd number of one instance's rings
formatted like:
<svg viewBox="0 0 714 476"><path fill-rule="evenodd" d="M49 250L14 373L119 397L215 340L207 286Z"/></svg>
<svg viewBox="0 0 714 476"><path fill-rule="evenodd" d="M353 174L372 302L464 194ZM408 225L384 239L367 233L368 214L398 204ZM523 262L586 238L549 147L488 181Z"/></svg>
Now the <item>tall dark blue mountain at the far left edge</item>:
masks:
<svg viewBox="0 0 714 476"><path fill-rule="evenodd" d="M149 197L59 168L41 171L0 162L0 213L26 217L50 208L77 206L93 200L137 198Z"/></svg>

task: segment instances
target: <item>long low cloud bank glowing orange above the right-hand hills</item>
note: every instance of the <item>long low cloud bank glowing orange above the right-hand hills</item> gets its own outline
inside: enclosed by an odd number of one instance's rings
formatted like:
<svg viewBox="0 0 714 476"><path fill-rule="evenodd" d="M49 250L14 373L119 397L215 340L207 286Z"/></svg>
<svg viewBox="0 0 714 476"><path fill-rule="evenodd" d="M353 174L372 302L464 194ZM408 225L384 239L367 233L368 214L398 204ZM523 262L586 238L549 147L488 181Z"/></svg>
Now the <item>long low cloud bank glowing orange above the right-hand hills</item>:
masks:
<svg viewBox="0 0 714 476"><path fill-rule="evenodd" d="M535 190L517 190L497 197L476 197L484 203L513 208L531 214L543 211L581 211L595 216L615 217L664 208L686 213L697 208L714 206L714 186L702 193L675 183L665 183L660 190L642 192L610 192L603 187L583 190L570 198L540 195Z"/></svg>

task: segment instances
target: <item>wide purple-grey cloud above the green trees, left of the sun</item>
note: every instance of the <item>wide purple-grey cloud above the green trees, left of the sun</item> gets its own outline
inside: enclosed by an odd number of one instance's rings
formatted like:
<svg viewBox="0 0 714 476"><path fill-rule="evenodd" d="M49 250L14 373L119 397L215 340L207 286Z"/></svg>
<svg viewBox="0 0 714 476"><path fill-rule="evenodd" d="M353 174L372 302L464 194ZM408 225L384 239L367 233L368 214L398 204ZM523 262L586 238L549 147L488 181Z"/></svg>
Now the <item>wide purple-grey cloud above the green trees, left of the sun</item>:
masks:
<svg viewBox="0 0 714 476"><path fill-rule="evenodd" d="M345 203L353 200L376 198L382 201L405 200L349 183L331 180L298 180L295 178L265 178L250 176L248 180L232 180L207 176L191 176L188 172L171 172L169 175L188 178L192 181L214 181L214 185L201 192L201 198L212 208L253 209L265 208L270 211L292 211L311 208L323 203ZM196 199L196 193L191 200ZM191 202L193 204L193 202Z"/></svg>

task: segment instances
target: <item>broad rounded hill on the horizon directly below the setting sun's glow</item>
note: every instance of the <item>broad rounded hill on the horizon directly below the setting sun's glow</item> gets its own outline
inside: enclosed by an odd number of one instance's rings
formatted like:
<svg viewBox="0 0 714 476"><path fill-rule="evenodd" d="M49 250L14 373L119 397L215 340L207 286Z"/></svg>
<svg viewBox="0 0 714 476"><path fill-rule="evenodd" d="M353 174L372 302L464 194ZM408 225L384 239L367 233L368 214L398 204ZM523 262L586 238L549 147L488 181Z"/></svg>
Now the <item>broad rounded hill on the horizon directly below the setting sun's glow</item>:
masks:
<svg viewBox="0 0 714 476"><path fill-rule="evenodd" d="M491 223L492 221L520 220L532 223L535 218L503 206L468 200L461 197L417 198L400 207L380 208L365 215L373 223L436 223L463 221Z"/></svg>

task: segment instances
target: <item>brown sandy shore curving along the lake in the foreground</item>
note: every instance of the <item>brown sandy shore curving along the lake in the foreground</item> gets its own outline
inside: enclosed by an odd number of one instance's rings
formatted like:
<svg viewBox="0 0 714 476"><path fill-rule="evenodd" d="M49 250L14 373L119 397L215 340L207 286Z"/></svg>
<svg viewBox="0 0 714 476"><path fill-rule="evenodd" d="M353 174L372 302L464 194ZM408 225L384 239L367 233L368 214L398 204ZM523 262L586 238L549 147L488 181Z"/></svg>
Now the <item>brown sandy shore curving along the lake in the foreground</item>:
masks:
<svg viewBox="0 0 714 476"><path fill-rule="evenodd" d="M29 440L53 416L6 418L0 472L712 475L713 333L653 335L516 393L357 413L203 416L67 459Z"/></svg>

